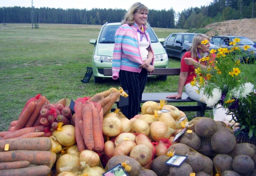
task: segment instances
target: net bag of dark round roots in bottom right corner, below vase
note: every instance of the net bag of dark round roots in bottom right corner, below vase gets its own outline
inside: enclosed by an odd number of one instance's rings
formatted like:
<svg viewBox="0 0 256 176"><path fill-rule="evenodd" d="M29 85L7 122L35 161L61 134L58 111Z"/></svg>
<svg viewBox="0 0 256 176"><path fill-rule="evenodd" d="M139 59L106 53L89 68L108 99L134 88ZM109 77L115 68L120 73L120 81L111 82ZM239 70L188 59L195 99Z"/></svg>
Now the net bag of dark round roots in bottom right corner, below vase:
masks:
<svg viewBox="0 0 256 176"><path fill-rule="evenodd" d="M236 144L228 154L213 158L214 169L219 175L255 175L256 146L249 143Z"/></svg>

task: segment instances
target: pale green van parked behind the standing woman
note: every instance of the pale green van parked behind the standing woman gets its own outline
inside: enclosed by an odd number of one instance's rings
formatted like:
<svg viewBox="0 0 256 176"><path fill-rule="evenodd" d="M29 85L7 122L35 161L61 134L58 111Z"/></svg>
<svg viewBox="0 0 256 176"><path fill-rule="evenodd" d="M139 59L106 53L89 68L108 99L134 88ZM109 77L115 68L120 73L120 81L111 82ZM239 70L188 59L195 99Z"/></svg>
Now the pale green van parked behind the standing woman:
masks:
<svg viewBox="0 0 256 176"><path fill-rule="evenodd" d="M94 76L94 83L102 82L104 76L104 68L112 68L112 57L115 43L115 32L121 23L105 23L99 33L98 39L91 39L90 43L94 45L92 55L92 72ZM151 46L155 54L154 66L155 68L167 68L168 56L161 42L164 38L157 38L153 29L149 26L147 32L151 39ZM98 41L98 42L97 42ZM153 76L153 75L152 75ZM167 76L156 76L157 80L166 81Z"/></svg>

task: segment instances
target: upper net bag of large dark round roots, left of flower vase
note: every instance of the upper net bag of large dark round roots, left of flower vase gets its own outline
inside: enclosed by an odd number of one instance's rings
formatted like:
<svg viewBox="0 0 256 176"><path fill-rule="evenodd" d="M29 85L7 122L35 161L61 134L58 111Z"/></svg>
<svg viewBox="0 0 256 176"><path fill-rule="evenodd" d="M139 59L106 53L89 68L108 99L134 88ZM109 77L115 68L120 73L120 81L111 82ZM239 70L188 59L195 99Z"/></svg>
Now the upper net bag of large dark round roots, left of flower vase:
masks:
<svg viewBox="0 0 256 176"><path fill-rule="evenodd" d="M188 123L179 142L188 145L205 156L228 154L236 145L233 131L223 122L208 117L196 117Z"/></svg>

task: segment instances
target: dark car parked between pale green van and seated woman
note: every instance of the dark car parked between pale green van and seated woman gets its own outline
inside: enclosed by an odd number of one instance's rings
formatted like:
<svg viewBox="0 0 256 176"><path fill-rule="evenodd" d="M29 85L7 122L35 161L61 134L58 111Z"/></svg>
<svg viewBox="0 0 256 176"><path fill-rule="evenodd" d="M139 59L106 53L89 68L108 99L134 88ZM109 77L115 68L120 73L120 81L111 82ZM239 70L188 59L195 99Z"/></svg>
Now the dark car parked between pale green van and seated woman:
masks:
<svg viewBox="0 0 256 176"><path fill-rule="evenodd" d="M165 38L164 48L168 56L182 58L188 48L192 45L196 33L172 33ZM210 49L218 49L212 43Z"/></svg>

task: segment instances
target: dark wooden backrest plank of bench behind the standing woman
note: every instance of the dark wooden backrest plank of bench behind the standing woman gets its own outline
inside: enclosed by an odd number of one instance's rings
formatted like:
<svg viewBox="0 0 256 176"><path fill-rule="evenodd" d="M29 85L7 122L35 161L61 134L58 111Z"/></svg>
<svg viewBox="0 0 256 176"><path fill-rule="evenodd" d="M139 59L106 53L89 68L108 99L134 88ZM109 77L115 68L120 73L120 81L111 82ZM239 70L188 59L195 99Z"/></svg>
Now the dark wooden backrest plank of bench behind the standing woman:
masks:
<svg viewBox="0 0 256 176"><path fill-rule="evenodd" d="M112 75L112 68L104 69L104 76ZM180 68L155 68L155 71L151 75L179 75Z"/></svg>

